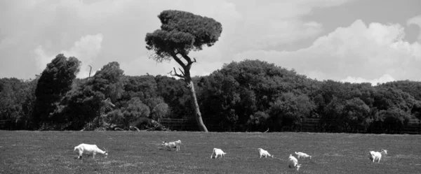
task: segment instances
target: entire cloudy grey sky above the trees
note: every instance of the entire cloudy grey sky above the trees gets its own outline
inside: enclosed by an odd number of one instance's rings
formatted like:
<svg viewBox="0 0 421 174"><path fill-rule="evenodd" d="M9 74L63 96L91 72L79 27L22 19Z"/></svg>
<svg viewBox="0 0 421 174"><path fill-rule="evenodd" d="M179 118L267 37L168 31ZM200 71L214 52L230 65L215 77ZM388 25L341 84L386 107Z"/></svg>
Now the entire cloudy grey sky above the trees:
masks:
<svg viewBox="0 0 421 174"><path fill-rule="evenodd" d="M192 75L260 59L317 80L421 81L420 0L14 0L0 1L0 78L34 78L59 53L98 70L166 75L175 61L148 59L145 35L162 10L222 24L217 43L192 52Z"/></svg>

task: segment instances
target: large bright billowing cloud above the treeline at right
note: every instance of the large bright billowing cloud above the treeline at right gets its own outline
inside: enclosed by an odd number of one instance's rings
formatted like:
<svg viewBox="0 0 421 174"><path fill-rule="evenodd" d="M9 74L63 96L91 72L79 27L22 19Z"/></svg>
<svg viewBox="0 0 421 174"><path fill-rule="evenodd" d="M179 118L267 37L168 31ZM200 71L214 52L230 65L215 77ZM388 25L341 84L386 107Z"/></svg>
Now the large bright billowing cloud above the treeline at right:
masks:
<svg viewBox="0 0 421 174"><path fill-rule="evenodd" d="M421 45L403 41L403 36L403 27L399 24L371 23L367 26L356 20L349 27L340 27L317 38L309 48L295 52L249 50L237 54L235 60L262 59L295 68L298 73L318 80L368 82L385 74L393 78L379 78L379 82L421 80Z"/></svg>

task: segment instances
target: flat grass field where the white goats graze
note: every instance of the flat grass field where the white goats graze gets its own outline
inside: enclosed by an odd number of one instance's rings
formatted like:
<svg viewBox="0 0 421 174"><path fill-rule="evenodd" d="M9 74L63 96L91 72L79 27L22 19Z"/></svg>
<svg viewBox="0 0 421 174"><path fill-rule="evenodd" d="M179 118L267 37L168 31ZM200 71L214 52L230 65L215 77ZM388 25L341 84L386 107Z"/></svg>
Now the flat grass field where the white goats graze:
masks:
<svg viewBox="0 0 421 174"><path fill-rule="evenodd" d="M180 152L161 148L182 140ZM74 146L96 144L108 158L75 159ZM214 147L227 154L210 159ZM258 148L274 154L259 159ZM380 164L370 150L388 150ZM295 151L300 171L287 167ZM0 131L0 173L421 173L421 136L345 133L200 133Z"/></svg>

